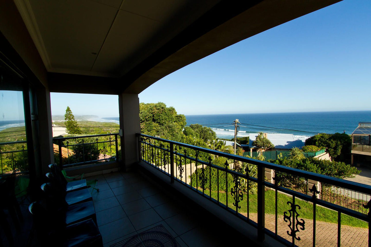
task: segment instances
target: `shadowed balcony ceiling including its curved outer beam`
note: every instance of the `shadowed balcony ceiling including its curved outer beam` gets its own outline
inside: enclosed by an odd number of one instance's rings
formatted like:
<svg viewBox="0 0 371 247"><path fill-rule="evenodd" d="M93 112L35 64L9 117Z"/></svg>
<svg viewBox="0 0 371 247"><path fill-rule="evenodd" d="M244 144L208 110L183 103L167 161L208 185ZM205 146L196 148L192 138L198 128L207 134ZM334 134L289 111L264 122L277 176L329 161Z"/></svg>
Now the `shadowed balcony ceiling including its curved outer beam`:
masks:
<svg viewBox="0 0 371 247"><path fill-rule="evenodd" d="M70 92L88 92L79 84L110 78L114 90L105 93L140 93L198 59L336 2L14 0L50 91L68 91L59 85L73 82Z"/></svg>

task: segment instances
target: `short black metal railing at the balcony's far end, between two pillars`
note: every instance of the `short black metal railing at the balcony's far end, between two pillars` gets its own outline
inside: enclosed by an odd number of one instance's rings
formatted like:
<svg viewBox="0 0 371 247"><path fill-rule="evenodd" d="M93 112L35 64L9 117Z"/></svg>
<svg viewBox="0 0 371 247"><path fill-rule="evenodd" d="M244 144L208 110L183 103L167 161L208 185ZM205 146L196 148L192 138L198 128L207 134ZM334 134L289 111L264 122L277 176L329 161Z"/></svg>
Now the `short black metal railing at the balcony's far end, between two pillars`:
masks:
<svg viewBox="0 0 371 247"><path fill-rule="evenodd" d="M118 160L118 133L53 138L58 143L57 163L63 167Z"/></svg>

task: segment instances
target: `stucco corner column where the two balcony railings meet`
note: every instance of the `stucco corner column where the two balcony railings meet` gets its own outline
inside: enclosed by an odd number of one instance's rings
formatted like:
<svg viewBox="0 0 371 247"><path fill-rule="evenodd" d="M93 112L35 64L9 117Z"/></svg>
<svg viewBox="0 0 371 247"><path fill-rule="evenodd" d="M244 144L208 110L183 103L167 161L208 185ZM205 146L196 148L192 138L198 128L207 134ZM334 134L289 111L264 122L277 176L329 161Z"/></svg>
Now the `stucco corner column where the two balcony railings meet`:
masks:
<svg viewBox="0 0 371 247"><path fill-rule="evenodd" d="M119 94L120 129L124 135L121 140L122 170L130 171L138 161L138 138L140 133L138 94Z"/></svg>

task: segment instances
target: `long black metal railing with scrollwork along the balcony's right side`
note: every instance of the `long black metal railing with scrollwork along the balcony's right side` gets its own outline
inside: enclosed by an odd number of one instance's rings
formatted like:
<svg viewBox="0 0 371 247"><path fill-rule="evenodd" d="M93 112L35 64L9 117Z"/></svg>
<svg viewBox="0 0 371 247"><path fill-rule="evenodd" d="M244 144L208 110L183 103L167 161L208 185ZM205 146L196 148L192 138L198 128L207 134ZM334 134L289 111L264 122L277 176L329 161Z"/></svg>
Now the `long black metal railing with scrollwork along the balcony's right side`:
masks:
<svg viewBox="0 0 371 247"><path fill-rule="evenodd" d="M362 234L368 237L343 241L370 246L371 186L144 134L138 134L138 149L139 160L165 173L171 183L183 184L256 227L259 241L268 234L288 246L315 246L325 242L340 246L342 226L348 224L364 227L367 231ZM217 158L213 160L214 155ZM231 169L236 164L239 167ZM273 183L266 181L266 168L276 172ZM315 184L308 188L312 195L280 186L279 173L301 178L307 181L307 186L308 180L313 180L366 195L364 211L318 198L320 191ZM334 243L327 239L332 237L328 229L318 236L316 226L321 227L322 221L330 222L337 236Z"/></svg>

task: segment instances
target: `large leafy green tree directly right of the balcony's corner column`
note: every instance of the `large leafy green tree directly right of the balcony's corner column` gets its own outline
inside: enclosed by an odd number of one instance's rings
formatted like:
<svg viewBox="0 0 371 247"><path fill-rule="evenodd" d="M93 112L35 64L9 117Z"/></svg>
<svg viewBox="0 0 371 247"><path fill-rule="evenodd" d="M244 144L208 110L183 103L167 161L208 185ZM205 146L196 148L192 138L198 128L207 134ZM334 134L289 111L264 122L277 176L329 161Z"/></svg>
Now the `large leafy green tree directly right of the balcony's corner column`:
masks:
<svg viewBox="0 0 371 247"><path fill-rule="evenodd" d="M185 116L177 114L174 107L166 107L165 103L140 103L139 118L142 134L173 141L180 141L183 137Z"/></svg>

